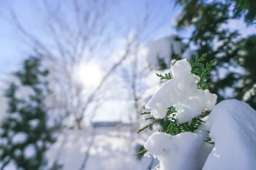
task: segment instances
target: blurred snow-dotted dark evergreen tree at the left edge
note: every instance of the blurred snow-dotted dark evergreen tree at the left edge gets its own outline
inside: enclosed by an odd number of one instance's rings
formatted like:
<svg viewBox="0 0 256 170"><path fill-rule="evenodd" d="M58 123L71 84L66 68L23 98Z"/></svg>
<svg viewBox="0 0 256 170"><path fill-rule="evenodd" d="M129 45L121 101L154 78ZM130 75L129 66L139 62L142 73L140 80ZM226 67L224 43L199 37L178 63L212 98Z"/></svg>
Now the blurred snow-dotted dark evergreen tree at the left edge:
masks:
<svg viewBox="0 0 256 170"><path fill-rule="evenodd" d="M45 152L55 139L55 128L47 126L47 106L44 99L49 94L47 82L43 80L48 74L41 69L38 57L29 57L23 68L15 73L19 83L12 82L6 90L9 99L8 110L1 123L0 169L7 164L15 164L17 169L45 169L47 160ZM20 98L18 93L24 94Z"/></svg>

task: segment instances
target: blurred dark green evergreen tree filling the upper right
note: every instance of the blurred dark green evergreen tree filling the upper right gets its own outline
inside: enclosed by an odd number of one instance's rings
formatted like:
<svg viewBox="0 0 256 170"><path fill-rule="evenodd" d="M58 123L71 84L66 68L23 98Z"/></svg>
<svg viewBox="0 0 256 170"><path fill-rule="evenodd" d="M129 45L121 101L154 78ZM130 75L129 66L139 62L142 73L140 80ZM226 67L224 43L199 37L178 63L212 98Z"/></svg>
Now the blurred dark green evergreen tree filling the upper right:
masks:
<svg viewBox="0 0 256 170"><path fill-rule="evenodd" d="M207 53L205 62L217 58L209 79L211 93L217 94L220 102L228 98L223 92L230 88L233 90L230 98L244 100L246 92L256 83L253 78L256 68L252 64L255 60L255 35L241 39L238 31L223 26L229 19L243 14L243 11L239 14L230 12L240 8L239 4L230 9L234 5L232 0L177 0L177 3L183 6L177 29L193 26L189 43L195 47L196 54ZM247 102L256 109L254 100L251 97Z"/></svg>

